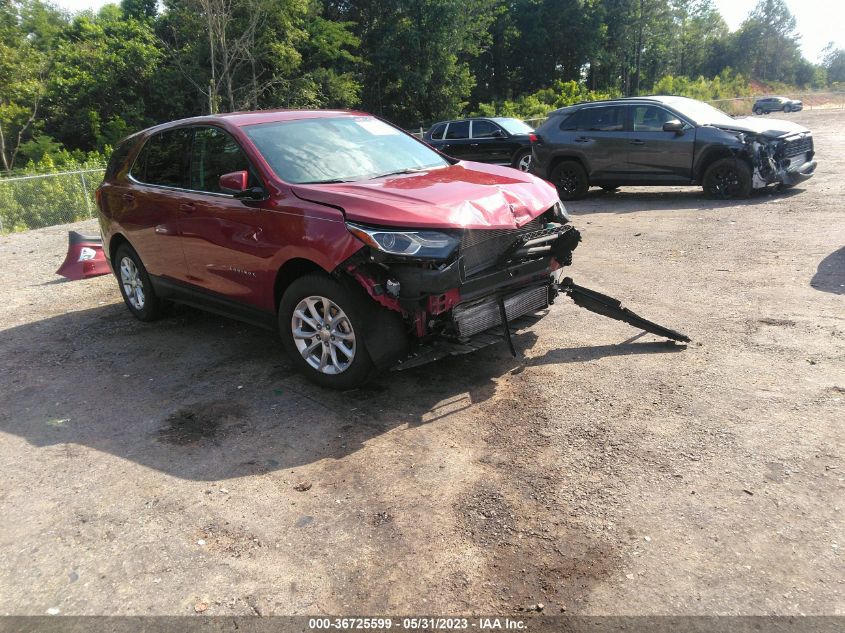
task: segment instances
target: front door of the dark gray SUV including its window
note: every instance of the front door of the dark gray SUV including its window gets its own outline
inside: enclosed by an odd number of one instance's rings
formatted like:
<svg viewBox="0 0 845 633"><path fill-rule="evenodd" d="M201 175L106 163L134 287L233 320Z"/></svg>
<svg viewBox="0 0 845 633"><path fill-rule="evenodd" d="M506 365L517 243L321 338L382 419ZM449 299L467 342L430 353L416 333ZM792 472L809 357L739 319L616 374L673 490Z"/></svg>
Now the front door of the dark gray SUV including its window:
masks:
<svg viewBox="0 0 845 633"><path fill-rule="evenodd" d="M663 124L679 119L657 105L627 106L632 132L628 146L628 169L637 180L689 183L695 152L695 128L688 123L678 132L664 132Z"/></svg>

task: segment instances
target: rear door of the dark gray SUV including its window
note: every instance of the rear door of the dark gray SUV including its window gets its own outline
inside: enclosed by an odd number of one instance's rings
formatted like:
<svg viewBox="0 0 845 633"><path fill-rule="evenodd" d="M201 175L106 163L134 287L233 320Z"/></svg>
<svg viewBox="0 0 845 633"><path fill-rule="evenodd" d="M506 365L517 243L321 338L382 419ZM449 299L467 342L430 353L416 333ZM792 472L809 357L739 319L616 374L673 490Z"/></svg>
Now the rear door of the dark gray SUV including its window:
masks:
<svg viewBox="0 0 845 633"><path fill-rule="evenodd" d="M590 106L578 110L562 124L571 147L588 164L593 182L615 182L624 178L628 162L625 108L621 105Z"/></svg>

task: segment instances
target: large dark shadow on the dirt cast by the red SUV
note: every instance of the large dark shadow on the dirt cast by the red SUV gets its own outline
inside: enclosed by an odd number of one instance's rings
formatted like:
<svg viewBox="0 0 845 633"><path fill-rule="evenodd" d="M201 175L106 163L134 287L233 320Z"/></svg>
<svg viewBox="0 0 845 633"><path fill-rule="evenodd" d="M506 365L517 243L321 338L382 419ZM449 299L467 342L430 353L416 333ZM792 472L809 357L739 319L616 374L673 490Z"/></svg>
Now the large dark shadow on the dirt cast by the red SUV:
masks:
<svg viewBox="0 0 845 633"><path fill-rule="evenodd" d="M519 349L535 341L515 337ZM530 364L667 351L657 345L554 350ZM140 323L112 304L3 332L0 430L215 481L340 459L487 400L522 367L494 345L341 393L303 379L272 332L189 308Z"/></svg>

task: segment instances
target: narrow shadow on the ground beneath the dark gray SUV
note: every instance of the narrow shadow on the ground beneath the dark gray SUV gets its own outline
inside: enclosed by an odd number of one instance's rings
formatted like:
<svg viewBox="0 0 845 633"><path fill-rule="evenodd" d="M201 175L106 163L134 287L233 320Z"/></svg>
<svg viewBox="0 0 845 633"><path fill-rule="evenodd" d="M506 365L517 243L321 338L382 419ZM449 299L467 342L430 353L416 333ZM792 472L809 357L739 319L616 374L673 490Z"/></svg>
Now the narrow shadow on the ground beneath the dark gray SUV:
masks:
<svg viewBox="0 0 845 633"><path fill-rule="evenodd" d="M615 192L590 189L581 200L567 202L566 208L576 217L591 213L636 213L639 211L707 211L724 207L765 204L773 200L790 200L803 193L801 187L778 191L774 187L754 191L744 200L712 200L706 198L701 187L626 189ZM576 220L577 223L577 220Z"/></svg>

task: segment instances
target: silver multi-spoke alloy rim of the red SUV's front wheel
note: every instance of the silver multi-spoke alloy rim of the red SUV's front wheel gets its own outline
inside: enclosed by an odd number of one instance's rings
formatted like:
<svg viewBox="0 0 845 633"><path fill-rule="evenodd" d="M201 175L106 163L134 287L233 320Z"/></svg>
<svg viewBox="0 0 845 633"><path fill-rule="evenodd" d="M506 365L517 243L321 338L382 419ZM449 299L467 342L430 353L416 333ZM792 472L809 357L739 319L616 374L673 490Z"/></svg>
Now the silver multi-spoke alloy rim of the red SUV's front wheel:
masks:
<svg viewBox="0 0 845 633"><path fill-rule="evenodd" d="M355 331L349 317L331 299L305 297L293 311L291 333L296 349L313 369L340 374L355 359Z"/></svg>

